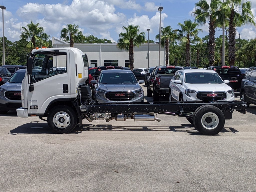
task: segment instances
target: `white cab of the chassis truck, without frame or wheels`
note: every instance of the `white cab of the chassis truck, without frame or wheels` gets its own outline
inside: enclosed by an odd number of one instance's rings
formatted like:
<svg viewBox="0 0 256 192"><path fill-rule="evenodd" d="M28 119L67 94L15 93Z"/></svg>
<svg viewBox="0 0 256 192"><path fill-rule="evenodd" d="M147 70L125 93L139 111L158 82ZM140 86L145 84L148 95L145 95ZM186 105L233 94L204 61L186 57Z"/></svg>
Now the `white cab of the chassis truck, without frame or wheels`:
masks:
<svg viewBox="0 0 256 192"><path fill-rule="evenodd" d="M84 85L87 79L88 59L81 50L34 49L22 81L22 108L17 109L18 116L44 117L60 104L74 108L72 100L77 98L78 86Z"/></svg>

